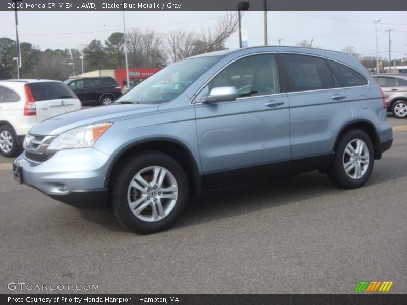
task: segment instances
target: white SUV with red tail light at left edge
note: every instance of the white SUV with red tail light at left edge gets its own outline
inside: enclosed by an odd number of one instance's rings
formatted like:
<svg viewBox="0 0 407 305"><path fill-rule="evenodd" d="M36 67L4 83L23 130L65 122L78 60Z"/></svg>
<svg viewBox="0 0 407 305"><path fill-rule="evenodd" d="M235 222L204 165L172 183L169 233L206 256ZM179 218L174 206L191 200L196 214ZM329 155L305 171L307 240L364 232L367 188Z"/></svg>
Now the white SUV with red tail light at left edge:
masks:
<svg viewBox="0 0 407 305"><path fill-rule="evenodd" d="M0 80L0 154L17 156L34 124L79 109L79 99L63 82Z"/></svg>

